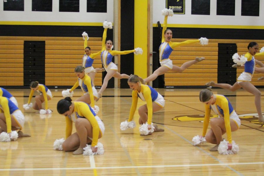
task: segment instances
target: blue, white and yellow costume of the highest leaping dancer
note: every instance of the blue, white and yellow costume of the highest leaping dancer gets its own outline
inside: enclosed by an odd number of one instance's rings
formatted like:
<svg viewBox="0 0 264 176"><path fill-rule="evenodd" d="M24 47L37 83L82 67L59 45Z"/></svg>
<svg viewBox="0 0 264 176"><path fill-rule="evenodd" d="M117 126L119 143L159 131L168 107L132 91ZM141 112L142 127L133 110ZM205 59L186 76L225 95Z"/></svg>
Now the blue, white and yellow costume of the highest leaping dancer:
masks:
<svg viewBox="0 0 264 176"><path fill-rule="evenodd" d="M165 16L164 22L163 22L162 40L161 40L161 44L160 44L160 48L159 48L160 63L164 62L165 60L169 60L169 56L172 53L174 48L176 48L178 46L183 46L183 45L187 45L187 44L200 42L200 40L186 40L184 42L172 42L172 41L166 42L165 37L164 37L164 32L167 29L167 18L168 18L168 16ZM164 66L167 67L166 65L164 65ZM172 68L169 68L169 69L171 70Z"/></svg>

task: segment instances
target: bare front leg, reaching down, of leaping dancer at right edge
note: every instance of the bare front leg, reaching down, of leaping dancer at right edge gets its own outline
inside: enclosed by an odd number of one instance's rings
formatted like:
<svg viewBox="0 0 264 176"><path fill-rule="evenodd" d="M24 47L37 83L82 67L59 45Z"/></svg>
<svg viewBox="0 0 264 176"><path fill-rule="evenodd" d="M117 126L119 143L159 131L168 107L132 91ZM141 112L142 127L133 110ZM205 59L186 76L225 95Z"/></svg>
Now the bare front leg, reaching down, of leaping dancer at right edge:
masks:
<svg viewBox="0 0 264 176"><path fill-rule="evenodd" d="M258 112L258 121L264 123L264 118L261 112L261 92L250 82L240 82L239 85L249 93L255 95L255 106Z"/></svg>

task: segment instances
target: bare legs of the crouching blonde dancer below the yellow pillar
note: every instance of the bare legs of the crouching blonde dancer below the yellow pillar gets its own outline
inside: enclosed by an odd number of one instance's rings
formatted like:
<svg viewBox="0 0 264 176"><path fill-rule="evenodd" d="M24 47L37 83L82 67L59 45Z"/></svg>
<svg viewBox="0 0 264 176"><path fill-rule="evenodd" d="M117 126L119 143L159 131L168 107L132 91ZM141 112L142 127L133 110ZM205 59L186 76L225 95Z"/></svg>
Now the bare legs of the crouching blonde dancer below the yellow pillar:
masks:
<svg viewBox="0 0 264 176"><path fill-rule="evenodd" d="M159 111L160 109L162 109L162 107L160 107L155 102L152 103L152 110L153 110L153 112ZM140 116L139 119L138 119L138 123L140 125L142 125L143 123L146 123L148 121L148 108L147 108L147 105L146 104L143 105L143 106L140 106L138 108L138 114ZM164 129L158 128L158 126L155 124L154 125L154 132L156 132L156 131L164 131ZM150 134L152 134L152 133L148 133L148 135L150 135Z"/></svg>

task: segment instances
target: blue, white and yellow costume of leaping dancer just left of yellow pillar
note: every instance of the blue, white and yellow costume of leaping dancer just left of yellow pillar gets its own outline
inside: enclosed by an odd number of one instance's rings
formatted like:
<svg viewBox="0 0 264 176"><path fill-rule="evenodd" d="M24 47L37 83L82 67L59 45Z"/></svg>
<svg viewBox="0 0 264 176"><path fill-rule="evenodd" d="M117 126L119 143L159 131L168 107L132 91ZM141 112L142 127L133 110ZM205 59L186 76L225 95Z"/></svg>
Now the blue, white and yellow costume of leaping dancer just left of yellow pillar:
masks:
<svg viewBox="0 0 264 176"><path fill-rule="evenodd" d="M114 55L124 55L135 52L135 50L127 50L127 51L115 51L115 50L106 50L105 40L106 40L106 32L107 28L104 29L103 39L102 39L102 51L101 51L101 62L105 68L105 70L117 70L117 67L107 69L109 64L112 65L112 58ZM114 64L114 63L113 63Z"/></svg>

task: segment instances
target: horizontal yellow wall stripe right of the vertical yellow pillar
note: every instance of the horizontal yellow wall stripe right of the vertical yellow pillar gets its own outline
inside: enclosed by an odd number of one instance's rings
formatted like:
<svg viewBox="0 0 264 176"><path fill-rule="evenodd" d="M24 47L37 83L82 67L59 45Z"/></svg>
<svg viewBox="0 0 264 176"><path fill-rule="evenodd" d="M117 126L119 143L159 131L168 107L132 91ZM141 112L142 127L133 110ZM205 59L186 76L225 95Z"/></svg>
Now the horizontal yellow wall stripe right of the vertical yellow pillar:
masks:
<svg viewBox="0 0 264 176"><path fill-rule="evenodd" d="M163 26L163 24L161 25ZM153 24L153 27L158 27ZM264 29L264 26L209 25L209 24L168 24L168 28L224 28L224 29Z"/></svg>

